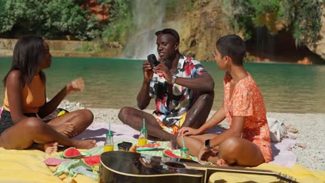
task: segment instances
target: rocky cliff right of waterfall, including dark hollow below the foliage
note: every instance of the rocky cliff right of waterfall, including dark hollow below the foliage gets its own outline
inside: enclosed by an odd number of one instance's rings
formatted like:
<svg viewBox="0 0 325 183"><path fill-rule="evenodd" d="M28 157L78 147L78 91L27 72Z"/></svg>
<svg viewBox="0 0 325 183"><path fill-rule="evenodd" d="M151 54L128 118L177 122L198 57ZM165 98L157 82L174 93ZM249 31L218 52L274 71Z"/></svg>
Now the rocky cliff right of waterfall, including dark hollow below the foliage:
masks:
<svg viewBox="0 0 325 183"><path fill-rule="evenodd" d="M322 6L322 29L319 40L307 46L296 46L285 22L267 20L265 33L256 28L253 37L247 40L252 61L297 62L299 64L325 63L325 10ZM215 42L222 35L237 34L230 26L231 12L222 8L222 0L194 1L194 8L179 14L167 25L178 30L181 37L180 50L197 60L212 61ZM272 28L269 28L272 24ZM285 25L286 24L286 25ZM263 29L263 28L262 28ZM264 31L264 30L263 30ZM243 37L244 38L244 37Z"/></svg>

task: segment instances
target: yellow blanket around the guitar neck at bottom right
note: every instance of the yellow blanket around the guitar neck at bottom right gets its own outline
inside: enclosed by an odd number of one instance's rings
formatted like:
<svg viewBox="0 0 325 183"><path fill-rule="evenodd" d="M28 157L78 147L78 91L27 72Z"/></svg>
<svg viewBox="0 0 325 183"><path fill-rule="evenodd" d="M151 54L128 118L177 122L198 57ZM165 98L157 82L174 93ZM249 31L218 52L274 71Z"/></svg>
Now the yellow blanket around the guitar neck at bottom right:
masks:
<svg viewBox="0 0 325 183"><path fill-rule="evenodd" d="M293 177L297 182L325 182L325 171L313 171L309 168L296 164L292 167L278 166L274 164L260 164L255 168L284 173ZM209 182L278 182L272 175L256 175L245 173L217 172L210 176Z"/></svg>

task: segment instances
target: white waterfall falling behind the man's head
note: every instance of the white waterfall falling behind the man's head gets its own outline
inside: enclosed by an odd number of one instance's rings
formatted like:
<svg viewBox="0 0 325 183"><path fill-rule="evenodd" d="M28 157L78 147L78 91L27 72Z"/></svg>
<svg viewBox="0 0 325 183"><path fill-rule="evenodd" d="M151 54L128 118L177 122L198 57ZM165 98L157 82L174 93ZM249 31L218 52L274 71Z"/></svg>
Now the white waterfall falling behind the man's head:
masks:
<svg viewBox="0 0 325 183"><path fill-rule="evenodd" d="M156 31L166 28L165 10L167 1L134 0L132 15L134 24L129 31L128 43L123 50L123 58L147 59L147 55L158 55Z"/></svg>

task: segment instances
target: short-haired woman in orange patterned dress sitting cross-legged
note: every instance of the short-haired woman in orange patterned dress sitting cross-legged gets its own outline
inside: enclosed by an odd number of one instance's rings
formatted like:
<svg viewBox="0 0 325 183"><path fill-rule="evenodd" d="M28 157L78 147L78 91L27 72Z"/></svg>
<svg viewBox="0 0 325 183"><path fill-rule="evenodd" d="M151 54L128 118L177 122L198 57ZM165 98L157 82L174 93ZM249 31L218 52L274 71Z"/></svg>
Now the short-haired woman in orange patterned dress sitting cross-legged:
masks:
<svg viewBox="0 0 325 183"><path fill-rule="evenodd" d="M179 131L178 145L182 146L183 136L190 154L201 161L219 166L258 166L272 161L263 96L244 69L245 52L244 41L237 35L226 35L217 41L215 61L220 69L226 70L224 102L201 128L185 127ZM225 132L203 134L225 118L230 125Z"/></svg>

